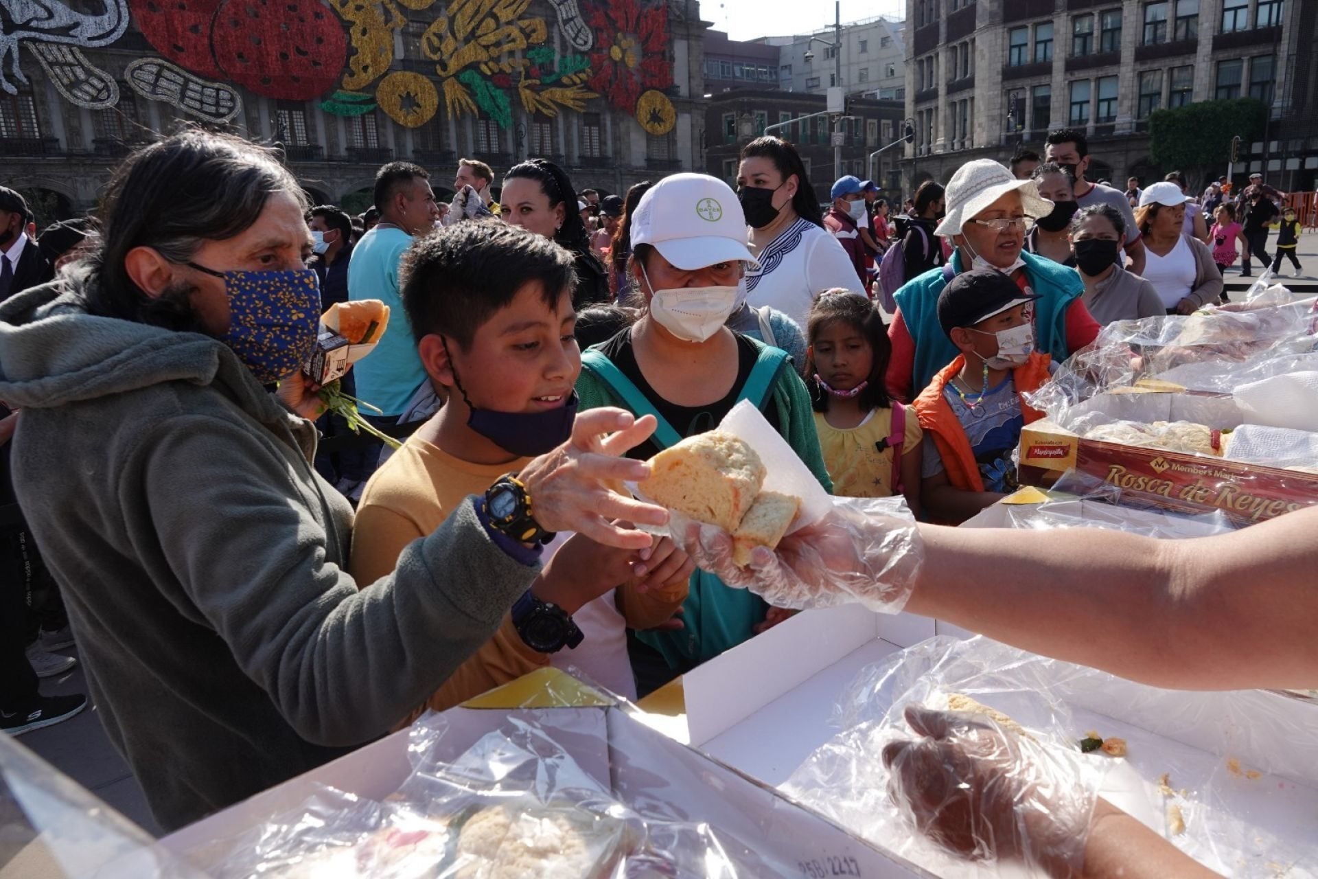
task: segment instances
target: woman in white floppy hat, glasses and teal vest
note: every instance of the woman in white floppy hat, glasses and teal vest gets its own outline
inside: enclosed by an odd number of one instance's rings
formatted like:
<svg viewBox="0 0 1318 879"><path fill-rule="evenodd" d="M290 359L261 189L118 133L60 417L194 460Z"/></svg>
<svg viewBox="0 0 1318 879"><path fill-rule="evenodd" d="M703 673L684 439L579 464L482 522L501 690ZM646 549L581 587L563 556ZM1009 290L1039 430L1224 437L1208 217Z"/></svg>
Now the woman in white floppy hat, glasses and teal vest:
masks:
<svg viewBox="0 0 1318 879"><path fill-rule="evenodd" d="M1032 181L1017 181L992 159L967 162L953 175L946 188L948 213L936 229L956 244L952 260L908 282L895 297L898 311L888 329L888 390L894 395L912 399L960 353L938 323L938 293L973 268L1004 271L1023 291L1039 297L1036 351L1062 361L1094 341L1099 326L1081 302L1085 283L1075 269L1021 252L1032 219L1052 210L1053 203L1040 198Z"/></svg>

